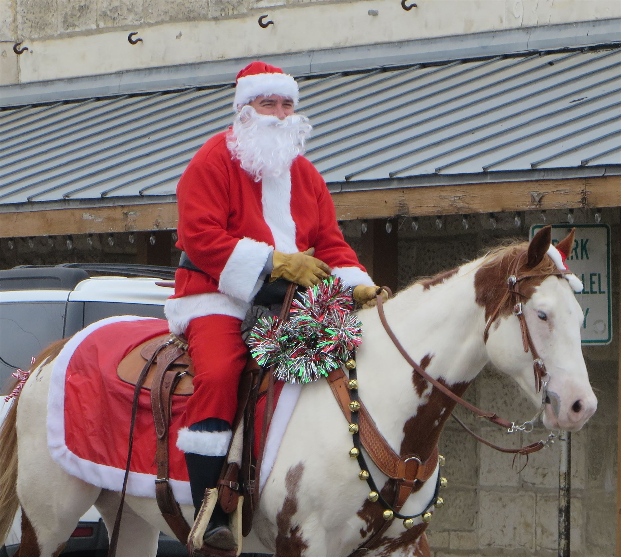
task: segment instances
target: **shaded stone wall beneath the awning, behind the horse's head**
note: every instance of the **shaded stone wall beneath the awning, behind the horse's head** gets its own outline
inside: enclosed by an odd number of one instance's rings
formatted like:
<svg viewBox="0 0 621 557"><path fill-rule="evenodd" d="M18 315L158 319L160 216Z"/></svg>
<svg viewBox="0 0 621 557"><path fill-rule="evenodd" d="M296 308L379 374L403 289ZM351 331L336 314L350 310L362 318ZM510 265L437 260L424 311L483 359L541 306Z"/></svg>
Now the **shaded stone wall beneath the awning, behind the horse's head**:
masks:
<svg viewBox="0 0 621 557"><path fill-rule="evenodd" d="M619 370L619 209L604 209L602 223L612 229L612 308L613 341L608 346L584 348L591 384L599 399L598 410L589 423L572 435L571 458L571 548L572 555L614 555L617 485L617 427ZM411 218L393 219L399 234L399 287L417 277L433 275L473 259L484 249L496 246L508 237L526 240L531 224L539 213L498 214L496 228L488 215L468 216L468 229L461 216L442 219L438 229L433 217L420 218L419 229L412 229ZM548 211L548 223L560 223L563 211ZM592 223L592 211L576 209L576 223ZM358 221L342 223L345 237L360 253L361 226ZM0 241L2 269L17 264L55 264L60 262L133 262L136 244L129 234L114 234L114 246L108 236L72 237L67 249L66 237L57 237L54 246L47 239ZM171 263L178 262L173 249ZM512 419L527 420L533 407L519 387L493 369L485 369L466 392L466 400L486 410ZM519 446L545 438L535 429L530 435L509 436L479 420L461 408L458 417L492 443ZM445 507L435 513L428 528L433 555L557 555L558 535L558 444L530 456L512 469L512 456L492 451L477 443L453 421L449 421L440 439L440 452L446 456L443 470L449 487L443 492Z"/></svg>

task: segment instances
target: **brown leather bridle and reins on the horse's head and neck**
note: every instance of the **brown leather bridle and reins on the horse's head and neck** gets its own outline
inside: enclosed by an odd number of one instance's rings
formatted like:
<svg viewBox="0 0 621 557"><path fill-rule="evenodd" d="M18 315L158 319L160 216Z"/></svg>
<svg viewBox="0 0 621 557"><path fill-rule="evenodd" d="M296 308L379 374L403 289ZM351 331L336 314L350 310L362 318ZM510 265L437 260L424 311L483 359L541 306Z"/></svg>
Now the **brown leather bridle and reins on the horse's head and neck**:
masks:
<svg viewBox="0 0 621 557"><path fill-rule="evenodd" d="M518 269L525 255L527 255L527 252L526 251L522 252L520 255L515 257L514 261L510 265L509 277L507 278L507 292L505 292L505 295L502 297L501 302L499 302L499 304L496 306L496 309L489 316L489 319L487 320L485 331L483 334L484 342L487 342L487 338L489 336L489 328L499 316L502 306L504 306L505 303L507 303L507 300L511 300L514 303L513 314L518 318L519 323L520 323L520 331L522 332L522 344L524 345L524 352L528 352L530 350L530 353L532 354L532 357L533 357L533 373L535 374L535 389L537 389L537 392L542 391L542 404L540 408L538 409L535 416L533 416L533 418L531 418L528 421L525 421L522 425L517 425L515 421L505 420L504 418L497 416L495 412L486 412L485 410L481 410L481 408L478 408L474 406L473 404L466 402L465 400L463 400L463 398L459 397L458 395L453 393L450 389L448 389L447 387L442 385L440 382L438 382L437 379L434 379L429 374L427 374L427 372L425 372L425 370L422 369L422 367L420 367L419 364L417 364L412 359L412 357L409 356L406 349L404 349L402 344L399 342L399 339L397 339L396 335L394 334L394 332L388 325L388 321L386 321L386 315L384 314L383 300L381 296L379 295L379 293L378 293L378 296L376 297L379 319L381 320L382 325L384 326L384 329L386 329L386 333L388 334L389 338L391 339L392 343L397 348L397 350L401 352L401 355L404 357L404 359L406 359L406 361L410 364L410 366L412 366L414 371L416 371L425 380L430 382L434 387L436 387L436 389L440 390L440 392L445 394L447 397L451 398L451 400L454 400L456 403L460 404L464 408L470 410L471 412L474 412L476 414L476 417L485 418L486 420L491 421L492 423L496 423L497 425L507 428L507 433L515 433L516 431L524 431L525 433L530 433L530 431L533 430L535 420L537 420L537 418L540 417L540 415L542 415L543 410L545 408L546 398L547 398L546 385L548 384L548 380L550 379L550 376L546 372L545 364L543 363L543 360L539 356L537 349L535 348L535 345L533 344L533 339L530 334L530 331L528 331L528 325L526 323L526 319L525 319L524 312L523 312L523 306L522 306L524 303L522 302L522 298L527 298L527 296L524 293L520 292L520 283L527 278L553 277L553 276L563 277L563 275L571 273L571 271L569 270L558 269L553 272L545 272L545 273L525 272L523 274L520 274L518 272ZM392 292L390 288L388 287L381 287L379 290L380 292L381 290L386 290L386 292L389 295L392 295ZM463 423L463 421L461 421L455 415L453 415L453 418L461 425L461 427L463 427L466 431L468 431L468 433L472 435L476 440L481 441L481 443L486 444L492 449L501 451L502 453L510 453L510 454L515 454L515 455L517 454L528 455L530 453L535 453L535 451L540 451L541 449L548 446L550 443L553 443L553 438L555 438L555 434L550 433L550 435L545 441L540 440L540 441L537 441L536 443L531 443L529 445L520 447L519 449L508 449L508 448L497 446L496 444L493 444L493 443L490 443L489 441L484 440L479 435L471 431L468 428L468 426L466 426Z"/></svg>

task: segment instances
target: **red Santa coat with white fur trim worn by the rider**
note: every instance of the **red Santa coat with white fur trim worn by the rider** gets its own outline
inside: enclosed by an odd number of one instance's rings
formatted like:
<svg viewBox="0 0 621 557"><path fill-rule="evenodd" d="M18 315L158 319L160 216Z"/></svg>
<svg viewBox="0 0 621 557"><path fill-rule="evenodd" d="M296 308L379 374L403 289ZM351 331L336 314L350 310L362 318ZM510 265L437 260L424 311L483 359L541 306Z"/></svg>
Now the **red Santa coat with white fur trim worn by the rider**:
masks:
<svg viewBox="0 0 621 557"><path fill-rule="evenodd" d="M315 248L315 257L349 286L373 280L338 229L332 198L317 169L297 157L281 177L255 182L233 160L227 134L209 139L177 186L178 242L205 274L178 269L166 302L173 333L204 315L243 319L261 287L273 249Z"/></svg>

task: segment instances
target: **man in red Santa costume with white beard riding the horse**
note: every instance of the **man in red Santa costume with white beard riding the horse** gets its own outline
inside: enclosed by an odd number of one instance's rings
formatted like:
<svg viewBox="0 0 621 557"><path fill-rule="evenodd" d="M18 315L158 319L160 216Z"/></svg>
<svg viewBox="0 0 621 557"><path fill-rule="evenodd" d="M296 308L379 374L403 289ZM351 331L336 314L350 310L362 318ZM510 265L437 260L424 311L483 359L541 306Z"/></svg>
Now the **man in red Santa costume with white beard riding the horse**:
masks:
<svg viewBox="0 0 621 557"><path fill-rule="evenodd" d="M248 356L240 327L261 286L286 278L307 287L333 274L360 304L376 295L323 178L302 156L312 127L294 113L298 100L292 76L248 65L237 75L233 126L199 149L177 186L183 255L165 311L171 331L188 338L196 373L177 446L197 510L224 464ZM204 539L233 548L220 509Z"/></svg>

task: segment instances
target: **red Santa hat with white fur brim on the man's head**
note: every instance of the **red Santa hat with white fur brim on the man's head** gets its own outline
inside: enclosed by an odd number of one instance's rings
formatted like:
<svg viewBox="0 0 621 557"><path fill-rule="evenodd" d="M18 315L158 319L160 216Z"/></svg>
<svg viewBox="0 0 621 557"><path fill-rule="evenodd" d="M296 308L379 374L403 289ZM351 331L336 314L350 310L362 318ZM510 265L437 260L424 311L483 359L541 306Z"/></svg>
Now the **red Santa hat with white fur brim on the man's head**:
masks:
<svg viewBox="0 0 621 557"><path fill-rule="evenodd" d="M293 99L294 106L300 98L296 80L291 75L265 62L251 62L237 74L233 109L239 112L259 95L272 94Z"/></svg>

